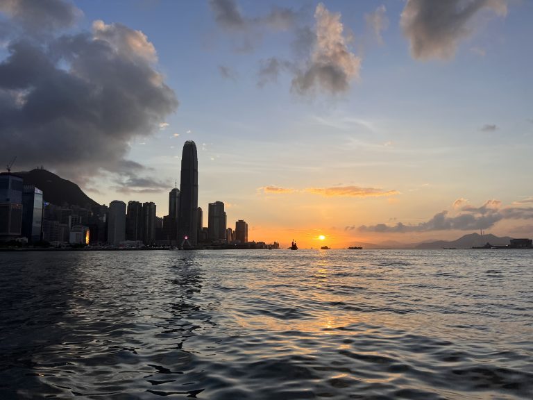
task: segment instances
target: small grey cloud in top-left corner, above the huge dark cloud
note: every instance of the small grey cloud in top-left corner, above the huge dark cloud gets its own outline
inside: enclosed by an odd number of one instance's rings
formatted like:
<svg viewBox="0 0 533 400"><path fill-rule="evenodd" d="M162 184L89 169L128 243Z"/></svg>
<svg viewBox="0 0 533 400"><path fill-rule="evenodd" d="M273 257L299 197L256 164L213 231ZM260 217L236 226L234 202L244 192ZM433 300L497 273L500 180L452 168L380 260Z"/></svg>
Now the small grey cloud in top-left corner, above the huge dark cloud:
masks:
<svg viewBox="0 0 533 400"><path fill-rule="evenodd" d="M65 0L0 0L0 12L12 19L13 26L33 33L69 28L83 15Z"/></svg>

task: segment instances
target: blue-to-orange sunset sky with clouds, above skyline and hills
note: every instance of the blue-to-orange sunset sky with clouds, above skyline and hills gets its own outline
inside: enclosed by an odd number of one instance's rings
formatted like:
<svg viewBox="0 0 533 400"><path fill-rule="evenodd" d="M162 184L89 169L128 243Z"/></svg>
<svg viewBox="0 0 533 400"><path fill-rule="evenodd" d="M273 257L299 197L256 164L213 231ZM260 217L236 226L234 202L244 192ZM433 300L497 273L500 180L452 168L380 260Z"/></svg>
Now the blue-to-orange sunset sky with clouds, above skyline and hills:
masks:
<svg viewBox="0 0 533 400"><path fill-rule="evenodd" d="M533 237L533 1L0 0L0 158L300 247ZM325 240L319 240L319 236Z"/></svg>

